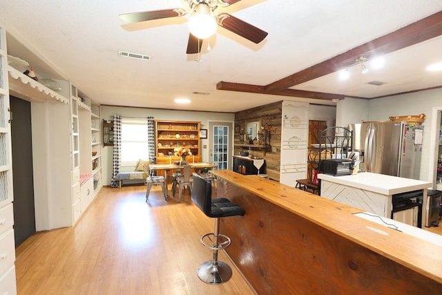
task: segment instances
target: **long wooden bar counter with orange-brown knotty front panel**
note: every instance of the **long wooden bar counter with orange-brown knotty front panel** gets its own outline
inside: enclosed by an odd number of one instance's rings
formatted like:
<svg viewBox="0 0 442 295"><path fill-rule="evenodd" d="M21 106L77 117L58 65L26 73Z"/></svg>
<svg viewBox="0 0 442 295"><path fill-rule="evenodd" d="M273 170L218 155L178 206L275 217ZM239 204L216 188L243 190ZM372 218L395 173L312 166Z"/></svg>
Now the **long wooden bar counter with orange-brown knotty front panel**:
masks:
<svg viewBox="0 0 442 295"><path fill-rule="evenodd" d="M345 204L284 184L213 171L227 254L258 294L442 294L442 246L378 225Z"/></svg>

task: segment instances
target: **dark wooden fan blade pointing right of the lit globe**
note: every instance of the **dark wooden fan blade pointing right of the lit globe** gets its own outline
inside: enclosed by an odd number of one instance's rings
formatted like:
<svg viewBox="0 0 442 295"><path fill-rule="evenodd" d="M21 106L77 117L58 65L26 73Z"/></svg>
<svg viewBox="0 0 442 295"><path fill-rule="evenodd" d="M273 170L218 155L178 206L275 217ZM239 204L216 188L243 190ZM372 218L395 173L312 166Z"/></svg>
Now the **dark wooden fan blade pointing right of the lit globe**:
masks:
<svg viewBox="0 0 442 295"><path fill-rule="evenodd" d="M246 23L245 21L233 17L232 15L228 15L227 13L218 15L218 25L256 44L264 40L269 34L268 32L256 28L256 26L252 26L250 23Z"/></svg>

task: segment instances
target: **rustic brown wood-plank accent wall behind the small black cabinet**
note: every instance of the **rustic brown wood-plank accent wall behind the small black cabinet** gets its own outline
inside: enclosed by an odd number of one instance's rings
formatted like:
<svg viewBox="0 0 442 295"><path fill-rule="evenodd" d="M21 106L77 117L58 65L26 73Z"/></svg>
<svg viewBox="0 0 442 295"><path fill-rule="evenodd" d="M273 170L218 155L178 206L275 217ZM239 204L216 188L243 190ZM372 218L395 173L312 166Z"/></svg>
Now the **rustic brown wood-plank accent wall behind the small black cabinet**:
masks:
<svg viewBox="0 0 442 295"><path fill-rule="evenodd" d="M271 126L270 131L270 146L271 149L262 151L260 149L252 149L253 155L262 157L266 161L266 171L272 180L279 181L280 173L280 153L281 153L281 125L282 125L282 102L274 102L273 104L266 104L265 106L258 106L256 108L249 108L248 110L235 113L235 143L240 143L240 130L246 129L247 122L254 122L262 120ZM242 149L235 146L234 155L238 155ZM247 150L247 148L244 148Z"/></svg>

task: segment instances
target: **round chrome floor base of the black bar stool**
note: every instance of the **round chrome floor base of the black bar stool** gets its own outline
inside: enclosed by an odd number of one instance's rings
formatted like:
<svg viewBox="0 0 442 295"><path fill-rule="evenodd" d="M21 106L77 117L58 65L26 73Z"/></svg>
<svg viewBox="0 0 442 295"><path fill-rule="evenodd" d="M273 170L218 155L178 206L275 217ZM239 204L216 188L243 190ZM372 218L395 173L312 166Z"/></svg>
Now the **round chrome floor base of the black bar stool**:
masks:
<svg viewBox="0 0 442 295"><path fill-rule="evenodd" d="M214 263L213 260L209 260L198 267L197 274L198 278L204 283L219 285L227 282L227 280L231 278L232 269L227 263L223 263L222 261L218 260Z"/></svg>

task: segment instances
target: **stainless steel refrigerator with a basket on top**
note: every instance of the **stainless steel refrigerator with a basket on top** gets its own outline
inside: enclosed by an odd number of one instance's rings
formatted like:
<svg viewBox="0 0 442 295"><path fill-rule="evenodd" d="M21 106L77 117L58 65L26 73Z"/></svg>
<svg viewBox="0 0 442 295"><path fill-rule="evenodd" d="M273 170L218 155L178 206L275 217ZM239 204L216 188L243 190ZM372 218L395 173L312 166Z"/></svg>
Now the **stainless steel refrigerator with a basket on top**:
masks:
<svg viewBox="0 0 442 295"><path fill-rule="evenodd" d="M423 126L407 122L365 122L350 124L353 151L361 158L365 172L419 180Z"/></svg>

